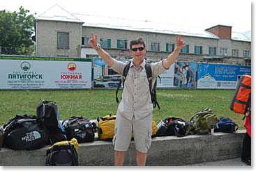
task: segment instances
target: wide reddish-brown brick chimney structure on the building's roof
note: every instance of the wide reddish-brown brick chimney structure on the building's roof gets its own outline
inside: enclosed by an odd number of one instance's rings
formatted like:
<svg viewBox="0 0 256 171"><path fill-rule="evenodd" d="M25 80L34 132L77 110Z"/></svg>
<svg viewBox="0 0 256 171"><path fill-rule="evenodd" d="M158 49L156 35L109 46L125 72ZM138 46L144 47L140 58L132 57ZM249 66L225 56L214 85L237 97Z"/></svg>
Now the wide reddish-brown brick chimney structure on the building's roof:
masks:
<svg viewBox="0 0 256 171"><path fill-rule="evenodd" d="M232 26L217 25L205 29L205 31L209 31L221 39L231 39Z"/></svg>

